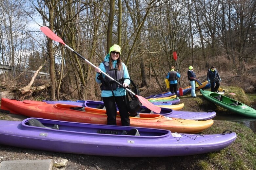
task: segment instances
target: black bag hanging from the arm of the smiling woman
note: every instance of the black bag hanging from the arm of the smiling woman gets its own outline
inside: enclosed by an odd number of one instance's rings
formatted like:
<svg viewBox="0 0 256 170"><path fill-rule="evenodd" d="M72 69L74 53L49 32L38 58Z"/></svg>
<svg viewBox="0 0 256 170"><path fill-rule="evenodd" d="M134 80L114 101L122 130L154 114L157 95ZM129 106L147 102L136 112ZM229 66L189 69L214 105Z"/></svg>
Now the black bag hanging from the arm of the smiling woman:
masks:
<svg viewBox="0 0 256 170"><path fill-rule="evenodd" d="M129 79L129 78L125 78L125 79ZM140 95L140 91L139 91L139 89L136 87L136 85L134 84L134 82L133 82L131 79L129 79L129 80L131 81L131 84L132 84L132 86L133 86L133 88L134 88L134 90L133 90L134 93L135 93L136 95ZM129 101L129 98L128 98L127 93L129 94L129 96L130 96L130 98L131 98L130 101ZM127 109L128 109L128 112L130 113L130 116L134 117L134 116L137 115L137 111L140 110L142 104L141 104L140 100L139 100L137 97L133 96L133 95L132 95L130 92L128 92L128 91L126 91L126 97L127 97Z"/></svg>

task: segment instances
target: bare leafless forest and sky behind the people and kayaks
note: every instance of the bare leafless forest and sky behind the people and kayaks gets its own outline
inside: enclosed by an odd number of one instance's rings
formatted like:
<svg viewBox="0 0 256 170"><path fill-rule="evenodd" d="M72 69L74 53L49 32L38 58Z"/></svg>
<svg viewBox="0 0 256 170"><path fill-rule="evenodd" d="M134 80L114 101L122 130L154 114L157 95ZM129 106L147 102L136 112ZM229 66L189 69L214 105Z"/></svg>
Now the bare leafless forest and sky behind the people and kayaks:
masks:
<svg viewBox="0 0 256 170"><path fill-rule="evenodd" d="M46 92L58 100L99 99L94 69L48 39L40 26L95 65L119 44L130 77L148 95L167 91L164 80L172 65L182 87L188 86L188 66L204 81L214 65L224 83L255 92L255 8L255 0L0 1L0 62L17 68L1 72L0 97ZM36 74L19 68L49 77L34 81Z"/></svg>

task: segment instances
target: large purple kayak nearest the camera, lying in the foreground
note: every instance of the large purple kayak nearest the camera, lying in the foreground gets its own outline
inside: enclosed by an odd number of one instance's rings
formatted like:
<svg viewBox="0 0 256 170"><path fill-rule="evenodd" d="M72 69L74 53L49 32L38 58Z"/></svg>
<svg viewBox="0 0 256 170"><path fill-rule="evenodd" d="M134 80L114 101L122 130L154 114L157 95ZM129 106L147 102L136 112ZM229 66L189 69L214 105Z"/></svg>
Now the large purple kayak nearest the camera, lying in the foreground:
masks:
<svg viewBox="0 0 256 170"><path fill-rule="evenodd" d="M0 144L85 155L167 157L219 151L235 141L231 131L201 135L169 130L74 123L40 118L0 120Z"/></svg>

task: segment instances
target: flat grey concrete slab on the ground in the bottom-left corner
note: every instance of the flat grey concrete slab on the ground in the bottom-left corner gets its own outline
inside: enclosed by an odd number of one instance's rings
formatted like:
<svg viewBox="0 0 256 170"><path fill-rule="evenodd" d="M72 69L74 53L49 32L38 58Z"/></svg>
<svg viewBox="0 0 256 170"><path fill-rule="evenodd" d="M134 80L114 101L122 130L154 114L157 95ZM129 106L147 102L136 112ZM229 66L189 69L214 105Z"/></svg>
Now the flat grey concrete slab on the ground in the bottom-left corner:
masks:
<svg viewBox="0 0 256 170"><path fill-rule="evenodd" d="M51 170L52 160L17 160L17 161L2 161L0 163L0 170L28 170L40 169Z"/></svg>

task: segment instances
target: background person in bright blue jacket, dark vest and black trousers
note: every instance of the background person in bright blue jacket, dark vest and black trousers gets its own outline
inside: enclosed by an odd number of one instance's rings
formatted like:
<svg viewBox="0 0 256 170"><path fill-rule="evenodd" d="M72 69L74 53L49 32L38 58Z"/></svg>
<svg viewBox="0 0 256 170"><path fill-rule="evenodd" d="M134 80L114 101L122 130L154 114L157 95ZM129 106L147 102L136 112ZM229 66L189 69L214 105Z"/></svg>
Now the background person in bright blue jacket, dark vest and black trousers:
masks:
<svg viewBox="0 0 256 170"><path fill-rule="evenodd" d="M175 93L177 95L177 85L178 85L178 81L177 81L177 77L180 78L180 74L177 70L174 71L175 67L171 66L171 71L168 72L166 78L168 78L168 81L170 82L170 92L171 93Z"/></svg>

